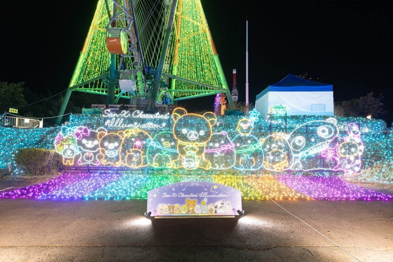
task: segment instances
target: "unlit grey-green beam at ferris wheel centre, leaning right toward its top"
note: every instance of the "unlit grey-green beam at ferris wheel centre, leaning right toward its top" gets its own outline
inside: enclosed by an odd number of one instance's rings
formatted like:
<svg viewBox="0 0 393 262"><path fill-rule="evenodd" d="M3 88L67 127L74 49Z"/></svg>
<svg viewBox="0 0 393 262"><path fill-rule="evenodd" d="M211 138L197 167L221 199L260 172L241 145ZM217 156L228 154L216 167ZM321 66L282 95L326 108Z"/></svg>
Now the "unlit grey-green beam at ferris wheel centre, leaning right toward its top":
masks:
<svg viewBox="0 0 393 262"><path fill-rule="evenodd" d="M177 0L173 0L171 15L169 15L167 29L165 30L164 43L163 43L162 49L161 49L160 62L158 62L157 72L154 77L154 88L153 88L153 92L151 95L152 99L154 100L154 103L157 103L157 100L158 100L158 90L160 90L160 82L161 82L161 78L162 78L162 72L164 69L165 59L167 57L169 39L171 38L173 18L174 18L174 14L176 13L176 3L177 3Z"/></svg>

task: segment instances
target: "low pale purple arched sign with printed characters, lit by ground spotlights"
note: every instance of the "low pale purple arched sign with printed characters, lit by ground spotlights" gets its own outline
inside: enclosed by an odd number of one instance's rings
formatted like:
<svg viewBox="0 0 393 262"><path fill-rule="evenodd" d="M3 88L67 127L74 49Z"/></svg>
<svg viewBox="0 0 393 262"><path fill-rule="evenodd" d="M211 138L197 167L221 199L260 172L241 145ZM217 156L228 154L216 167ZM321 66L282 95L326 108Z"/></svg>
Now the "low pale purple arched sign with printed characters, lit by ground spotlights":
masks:
<svg viewBox="0 0 393 262"><path fill-rule="evenodd" d="M147 213L154 218L234 217L237 210L240 190L213 182L179 182L147 192Z"/></svg>

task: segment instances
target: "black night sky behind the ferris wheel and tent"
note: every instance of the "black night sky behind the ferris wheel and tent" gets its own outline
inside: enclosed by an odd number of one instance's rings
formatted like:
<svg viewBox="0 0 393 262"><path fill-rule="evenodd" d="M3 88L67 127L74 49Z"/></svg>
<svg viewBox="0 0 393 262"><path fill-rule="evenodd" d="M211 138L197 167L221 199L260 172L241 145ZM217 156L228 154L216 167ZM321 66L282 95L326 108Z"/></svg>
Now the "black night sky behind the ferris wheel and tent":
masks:
<svg viewBox="0 0 393 262"><path fill-rule="evenodd" d="M335 101L382 93L387 111L382 119L389 125L393 8L389 1L346 2L202 0L230 87L232 69L237 69L239 100L245 101L247 17L250 102L288 73L307 72L313 81L333 84ZM61 92L70 82L97 1L15 4L2 4L0 80L23 81L44 94ZM192 104L198 107L189 109L213 110L213 100L197 99Z"/></svg>

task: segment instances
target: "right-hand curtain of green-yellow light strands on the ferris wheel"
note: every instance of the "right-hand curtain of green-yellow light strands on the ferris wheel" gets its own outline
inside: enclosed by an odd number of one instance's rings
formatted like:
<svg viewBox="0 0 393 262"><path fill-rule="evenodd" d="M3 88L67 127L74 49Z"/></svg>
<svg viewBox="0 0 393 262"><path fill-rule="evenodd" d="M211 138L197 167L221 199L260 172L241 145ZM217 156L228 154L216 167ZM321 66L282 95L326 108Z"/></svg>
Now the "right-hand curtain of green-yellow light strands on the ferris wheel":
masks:
<svg viewBox="0 0 393 262"><path fill-rule="evenodd" d="M176 11L176 23L174 23L176 26L173 26L171 34L171 47L178 48L171 52L171 60L178 61L176 75L222 88L223 84L214 59L211 37L200 1L180 1ZM177 38L179 42L176 43ZM177 57L174 57L175 55ZM214 91L184 81L176 81L175 89ZM200 93L175 92L174 95L184 97Z"/></svg>

